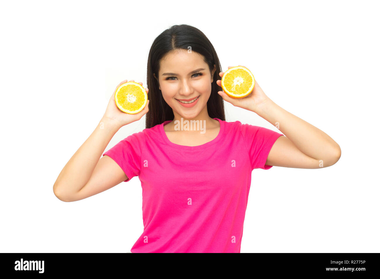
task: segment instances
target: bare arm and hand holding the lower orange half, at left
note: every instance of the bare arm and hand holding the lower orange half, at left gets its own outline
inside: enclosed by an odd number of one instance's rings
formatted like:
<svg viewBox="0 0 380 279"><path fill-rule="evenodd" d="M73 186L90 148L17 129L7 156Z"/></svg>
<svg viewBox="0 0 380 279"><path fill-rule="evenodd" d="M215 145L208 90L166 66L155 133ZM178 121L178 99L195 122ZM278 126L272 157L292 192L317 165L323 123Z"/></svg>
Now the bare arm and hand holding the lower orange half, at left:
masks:
<svg viewBox="0 0 380 279"><path fill-rule="evenodd" d="M115 91L125 82L127 80L120 82ZM139 84L142 85L142 82ZM148 112L149 100L140 112L124 113L116 106L115 91L97 128L63 167L54 183L55 196L64 202L85 199L127 179L127 175L114 160L108 156L100 157L120 127L140 120Z"/></svg>

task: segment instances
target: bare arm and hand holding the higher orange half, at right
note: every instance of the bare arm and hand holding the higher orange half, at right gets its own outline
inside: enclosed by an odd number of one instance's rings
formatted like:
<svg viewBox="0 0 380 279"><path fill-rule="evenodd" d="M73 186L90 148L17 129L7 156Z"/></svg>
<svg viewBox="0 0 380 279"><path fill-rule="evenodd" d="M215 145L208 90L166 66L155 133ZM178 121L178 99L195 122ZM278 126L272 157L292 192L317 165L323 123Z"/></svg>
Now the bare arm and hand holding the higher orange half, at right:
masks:
<svg viewBox="0 0 380 279"><path fill-rule="evenodd" d="M221 72L219 76L223 77L223 74ZM222 82L218 80L217 84L221 87ZM339 160L341 150L338 143L317 127L275 104L256 80L252 92L244 98L234 99L223 91L218 93L234 106L255 112L285 135L274 143L266 165L318 169L332 166Z"/></svg>

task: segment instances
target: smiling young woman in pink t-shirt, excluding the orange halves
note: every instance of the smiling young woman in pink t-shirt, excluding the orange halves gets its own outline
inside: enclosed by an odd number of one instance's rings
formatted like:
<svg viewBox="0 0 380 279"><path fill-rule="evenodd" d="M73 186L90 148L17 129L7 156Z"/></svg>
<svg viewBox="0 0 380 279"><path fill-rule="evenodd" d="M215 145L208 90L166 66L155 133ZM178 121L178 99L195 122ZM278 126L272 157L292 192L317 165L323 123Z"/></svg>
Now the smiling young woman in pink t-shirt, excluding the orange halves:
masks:
<svg viewBox="0 0 380 279"><path fill-rule="evenodd" d="M200 30L165 30L150 48L145 108L123 113L112 93L98 127L57 178L54 194L72 202L138 176L144 231L131 252L240 252L253 169L332 166L340 147L275 104L257 82L249 96L230 98L220 91L222 76L215 49ZM223 100L283 134L226 122ZM146 129L103 153L120 127L145 114ZM181 124L190 120L199 126Z"/></svg>

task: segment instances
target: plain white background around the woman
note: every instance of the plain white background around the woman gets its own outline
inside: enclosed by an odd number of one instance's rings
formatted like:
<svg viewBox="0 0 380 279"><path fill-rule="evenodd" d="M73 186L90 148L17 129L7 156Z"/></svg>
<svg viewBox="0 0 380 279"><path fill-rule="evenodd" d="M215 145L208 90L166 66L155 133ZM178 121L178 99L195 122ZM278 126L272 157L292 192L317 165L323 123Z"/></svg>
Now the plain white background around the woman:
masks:
<svg viewBox="0 0 380 279"><path fill-rule="evenodd" d="M2 2L1 252L127 252L141 235L138 177L77 202L53 193L116 85L146 87L153 40L199 28L225 71L332 137L324 169L254 170L241 252L380 252L379 8L375 1ZM225 102L226 121L277 130ZM145 128L122 127L106 150Z"/></svg>

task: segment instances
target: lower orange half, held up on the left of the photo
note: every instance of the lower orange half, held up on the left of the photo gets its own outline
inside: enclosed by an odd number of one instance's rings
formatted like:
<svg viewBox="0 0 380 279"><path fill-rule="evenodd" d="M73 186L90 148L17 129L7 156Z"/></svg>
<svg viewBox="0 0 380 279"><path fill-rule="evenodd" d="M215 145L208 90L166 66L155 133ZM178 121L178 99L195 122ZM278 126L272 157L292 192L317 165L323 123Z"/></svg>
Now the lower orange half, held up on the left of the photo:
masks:
<svg viewBox="0 0 380 279"><path fill-rule="evenodd" d="M146 90L137 82L126 82L115 91L116 106L125 113L135 114L141 112L147 101Z"/></svg>

